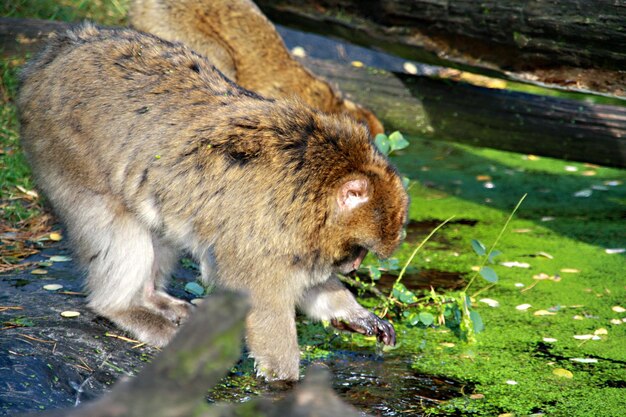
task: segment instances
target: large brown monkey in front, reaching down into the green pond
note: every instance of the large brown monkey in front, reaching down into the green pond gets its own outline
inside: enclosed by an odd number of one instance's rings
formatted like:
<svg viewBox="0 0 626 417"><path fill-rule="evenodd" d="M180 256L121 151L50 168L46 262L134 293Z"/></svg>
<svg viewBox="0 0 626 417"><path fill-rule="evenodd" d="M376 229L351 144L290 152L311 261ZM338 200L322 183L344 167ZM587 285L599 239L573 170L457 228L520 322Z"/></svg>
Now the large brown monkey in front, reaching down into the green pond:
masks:
<svg viewBox="0 0 626 417"><path fill-rule="evenodd" d="M297 379L295 309L394 343L333 276L398 245L407 195L367 130L265 99L201 55L130 29L53 37L21 75L24 149L88 272L89 306L161 346L190 305L181 251L245 290L258 373Z"/></svg>

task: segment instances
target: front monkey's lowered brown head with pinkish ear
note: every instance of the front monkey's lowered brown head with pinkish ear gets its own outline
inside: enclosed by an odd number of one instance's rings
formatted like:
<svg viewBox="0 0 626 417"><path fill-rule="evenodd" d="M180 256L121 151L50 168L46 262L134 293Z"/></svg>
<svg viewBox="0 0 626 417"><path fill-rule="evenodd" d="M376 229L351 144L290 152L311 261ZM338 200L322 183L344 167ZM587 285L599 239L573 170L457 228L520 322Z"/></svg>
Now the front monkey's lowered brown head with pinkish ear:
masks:
<svg viewBox="0 0 626 417"><path fill-rule="evenodd" d="M349 131L339 132L349 137L331 140L332 150L325 152L335 169L327 177L329 209L320 236L322 251L341 273L357 269L368 251L389 257L401 241L408 210L408 195L396 170L362 126L347 126Z"/></svg>

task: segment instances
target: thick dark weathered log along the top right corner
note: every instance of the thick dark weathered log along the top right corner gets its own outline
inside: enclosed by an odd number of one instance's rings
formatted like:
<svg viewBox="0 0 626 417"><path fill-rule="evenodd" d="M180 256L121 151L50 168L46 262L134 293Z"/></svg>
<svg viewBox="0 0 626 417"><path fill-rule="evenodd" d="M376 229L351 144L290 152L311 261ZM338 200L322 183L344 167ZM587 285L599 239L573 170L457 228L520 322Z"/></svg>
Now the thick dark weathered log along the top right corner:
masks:
<svg viewBox="0 0 626 417"><path fill-rule="evenodd" d="M276 23L488 76L626 95L626 2L257 0Z"/></svg>

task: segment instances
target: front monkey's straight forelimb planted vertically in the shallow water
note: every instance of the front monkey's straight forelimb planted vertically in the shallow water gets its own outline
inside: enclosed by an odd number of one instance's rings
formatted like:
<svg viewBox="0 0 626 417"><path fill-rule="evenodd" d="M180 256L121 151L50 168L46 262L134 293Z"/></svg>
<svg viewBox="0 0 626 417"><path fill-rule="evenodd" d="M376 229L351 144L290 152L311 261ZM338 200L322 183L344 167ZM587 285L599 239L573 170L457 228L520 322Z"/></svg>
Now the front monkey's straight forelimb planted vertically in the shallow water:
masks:
<svg viewBox="0 0 626 417"><path fill-rule="evenodd" d="M295 303L278 292L251 293L252 308L246 320L248 348L255 359L257 375L269 381L297 380L300 348Z"/></svg>

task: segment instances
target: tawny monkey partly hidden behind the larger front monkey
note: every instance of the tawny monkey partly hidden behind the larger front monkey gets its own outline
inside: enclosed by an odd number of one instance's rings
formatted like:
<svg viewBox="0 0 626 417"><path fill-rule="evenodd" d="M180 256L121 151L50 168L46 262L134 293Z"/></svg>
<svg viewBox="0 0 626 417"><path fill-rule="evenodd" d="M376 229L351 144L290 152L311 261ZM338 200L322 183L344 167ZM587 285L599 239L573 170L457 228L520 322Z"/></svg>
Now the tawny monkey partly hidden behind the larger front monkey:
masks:
<svg viewBox="0 0 626 417"><path fill-rule="evenodd" d="M296 61L251 0L133 0L130 22L190 46L248 90L273 98L298 96L323 112L355 117L368 125L372 136L384 132L373 113L343 99Z"/></svg>

